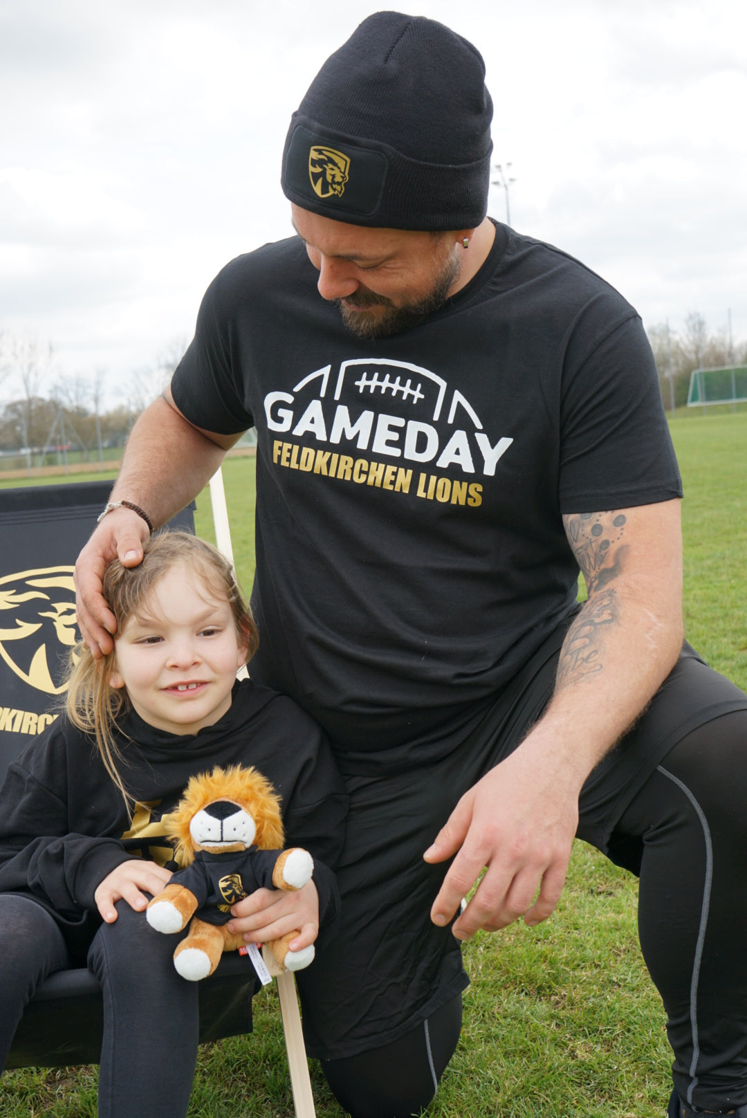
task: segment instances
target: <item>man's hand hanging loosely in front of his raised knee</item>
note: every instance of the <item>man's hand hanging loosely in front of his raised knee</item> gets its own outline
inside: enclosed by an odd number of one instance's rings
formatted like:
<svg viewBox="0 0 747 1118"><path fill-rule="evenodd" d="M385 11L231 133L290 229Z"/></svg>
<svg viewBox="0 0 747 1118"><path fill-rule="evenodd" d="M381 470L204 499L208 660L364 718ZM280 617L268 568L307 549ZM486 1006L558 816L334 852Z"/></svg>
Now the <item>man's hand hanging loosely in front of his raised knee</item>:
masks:
<svg viewBox="0 0 747 1118"><path fill-rule="evenodd" d="M427 862L456 855L431 909L439 926L448 923L486 866L453 926L457 939L470 939L479 928L497 931L521 916L530 926L539 923L558 903L583 777L549 764L547 745L536 728L462 796L424 854Z"/></svg>

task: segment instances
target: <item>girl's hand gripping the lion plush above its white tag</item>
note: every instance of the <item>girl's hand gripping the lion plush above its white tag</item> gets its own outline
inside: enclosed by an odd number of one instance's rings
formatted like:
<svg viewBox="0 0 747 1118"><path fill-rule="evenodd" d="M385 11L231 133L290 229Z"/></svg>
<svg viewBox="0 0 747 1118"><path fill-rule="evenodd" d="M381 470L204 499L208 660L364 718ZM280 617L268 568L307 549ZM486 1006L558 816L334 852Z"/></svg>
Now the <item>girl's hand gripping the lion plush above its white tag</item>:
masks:
<svg viewBox="0 0 747 1118"><path fill-rule="evenodd" d="M300 929L289 945L292 951L310 947L319 935L319 894L313 881L303 889L285 892L281 889L257 889L231 906L234 919L228 930L244 936L247 944L264 944Z"/></svg>

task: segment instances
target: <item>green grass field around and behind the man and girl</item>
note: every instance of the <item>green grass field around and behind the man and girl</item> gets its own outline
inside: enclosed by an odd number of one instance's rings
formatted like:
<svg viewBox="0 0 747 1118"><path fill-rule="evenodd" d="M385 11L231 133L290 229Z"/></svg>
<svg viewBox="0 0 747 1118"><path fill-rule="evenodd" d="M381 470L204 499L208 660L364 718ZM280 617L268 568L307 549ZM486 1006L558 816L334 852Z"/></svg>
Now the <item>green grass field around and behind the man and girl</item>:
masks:
<svg viewBox="0 0 747 1118"><path fill-rule="evenodd" d="M672 436L685 487L688 637L747 689L747 413L690 414L674 419ZM228 461L225 481L237 568L248 588L254 459ZM209 518L202 494L197 525L208 538ZM635 879L576 843L550 920L481 934L466 946L472 986L464 1031L429 1118L663 1118L671 1057L635 910ZM312 1082L319 1118L341 1118L313 1062ZM95 1114L95 1069L8 1072L0 1081L2 1118ZM272 991L255 998L252 1036L200 1051L190 1118L237 1115L293 1115Z"/></svg>

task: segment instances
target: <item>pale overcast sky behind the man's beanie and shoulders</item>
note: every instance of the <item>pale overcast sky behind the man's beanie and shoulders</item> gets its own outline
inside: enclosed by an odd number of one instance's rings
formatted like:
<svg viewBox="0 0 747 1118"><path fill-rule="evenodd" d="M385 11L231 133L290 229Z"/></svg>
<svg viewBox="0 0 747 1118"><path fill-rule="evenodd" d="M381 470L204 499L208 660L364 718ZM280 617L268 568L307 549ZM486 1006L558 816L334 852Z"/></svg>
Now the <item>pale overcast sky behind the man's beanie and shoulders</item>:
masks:
<svg viewBox="0 0 747 1118"><path fill-rule="evenodd" d="M56 373L189 338L231 257L289 236L291 113L365 0L0 0L0 330ZM747 15L737 0L420 0L482 51L511 224L646 325L747 340ZM490 212L505 220L502 190ZM0 396L13 386L6 380Z"/></svg>

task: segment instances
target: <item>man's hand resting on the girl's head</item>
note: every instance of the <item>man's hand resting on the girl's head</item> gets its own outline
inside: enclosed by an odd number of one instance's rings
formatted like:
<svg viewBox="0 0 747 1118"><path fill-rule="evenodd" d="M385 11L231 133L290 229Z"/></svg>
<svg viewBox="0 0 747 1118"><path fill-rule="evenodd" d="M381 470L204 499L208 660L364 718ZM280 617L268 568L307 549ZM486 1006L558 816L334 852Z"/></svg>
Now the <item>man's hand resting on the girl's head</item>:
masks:
<svg viewBox="0 0 747 1118"><path fill-rule="evenodd" d="M75 565L76 610L81 635L96 660L114 647L116 618L102 595L107 563L119 557L123 567L142 562L148 524L131 509L108 512L93 533Z"/></svg>

